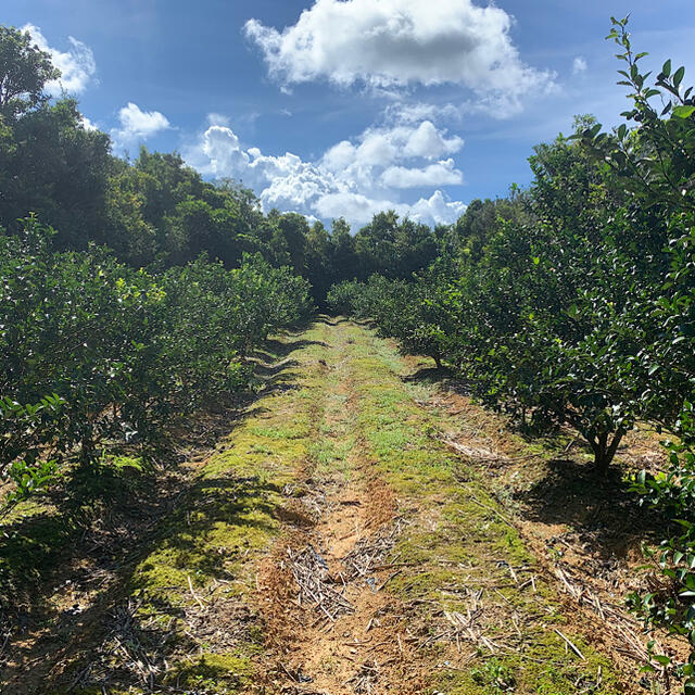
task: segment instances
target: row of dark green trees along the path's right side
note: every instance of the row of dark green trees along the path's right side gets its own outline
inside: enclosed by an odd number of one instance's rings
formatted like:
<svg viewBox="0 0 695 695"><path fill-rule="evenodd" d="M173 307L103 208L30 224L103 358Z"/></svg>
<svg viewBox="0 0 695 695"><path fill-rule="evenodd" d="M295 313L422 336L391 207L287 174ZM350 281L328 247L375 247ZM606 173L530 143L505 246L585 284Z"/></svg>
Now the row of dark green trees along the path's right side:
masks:
<svg viewBox="0 0 695 695"><path fill-rule="evenodd" d="M627 123L579 118L535 148L529 190L471 205L426 271L343 282L329 302L444 363L528 432L573 428L598 473L639 420L677 435L669 469L633 479L680 531L656 554L660 586L630 602L695 646L695 98L683 67L641 71L627 20L609 38ZM694 656L655 664L692 692Z"/></svg>

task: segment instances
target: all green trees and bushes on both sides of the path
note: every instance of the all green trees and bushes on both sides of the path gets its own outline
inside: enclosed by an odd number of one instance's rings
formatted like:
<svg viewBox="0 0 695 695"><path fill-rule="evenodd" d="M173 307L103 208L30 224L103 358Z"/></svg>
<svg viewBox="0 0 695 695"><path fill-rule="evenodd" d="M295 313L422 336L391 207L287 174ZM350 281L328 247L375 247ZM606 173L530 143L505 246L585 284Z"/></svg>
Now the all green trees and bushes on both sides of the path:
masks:
<svg viewBox="0 0 695 695"><path fill-rule="evenodd" d="M182 415L252 383L252 349L314 306L375 320L529 435L572 428L605 475L654 424L669 468L632 480L673 533L658 587L629 601L695 645L695 98L684 68L643 73L630 106L540 144L533 182L434 229L384 211L354 236L264 213L177 154L113 156L27 34L0 27L0 475L5 508L104 451L155 460ZM667 657L660 657L667 658ZM670 664L695 688L695 657Z"/></svg>

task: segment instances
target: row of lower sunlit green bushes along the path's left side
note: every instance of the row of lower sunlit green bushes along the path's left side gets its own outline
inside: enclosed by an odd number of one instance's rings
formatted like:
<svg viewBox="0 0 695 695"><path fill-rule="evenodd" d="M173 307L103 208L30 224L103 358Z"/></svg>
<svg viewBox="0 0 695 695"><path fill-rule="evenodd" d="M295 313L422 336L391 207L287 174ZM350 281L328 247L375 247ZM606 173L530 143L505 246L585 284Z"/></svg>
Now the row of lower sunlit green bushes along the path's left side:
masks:
<svg viewBox="0 0 695 695"><path fill-rule="evenodd" d="M100 249L56 252L36 219L0 239L0 479L11 503L105 445L161 451L167 428L249 383L244 357L312 308L260 255L153 275Z"/></svg>

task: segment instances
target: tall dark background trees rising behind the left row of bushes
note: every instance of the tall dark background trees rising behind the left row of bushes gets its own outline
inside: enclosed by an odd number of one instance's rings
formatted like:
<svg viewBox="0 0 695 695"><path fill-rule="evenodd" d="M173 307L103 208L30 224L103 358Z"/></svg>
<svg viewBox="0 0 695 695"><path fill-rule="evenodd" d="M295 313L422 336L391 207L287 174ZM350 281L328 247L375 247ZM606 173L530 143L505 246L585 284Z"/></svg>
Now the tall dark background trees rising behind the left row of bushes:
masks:
<svg viewBox="0 0 695 695"><path fill-rule="evenodd" d="M227 268L244 253L290 266L309 280L321 304L330 285L380 271L408 277L438 253L429 227L384 212L351 235L344 219L330 230L303 215L264 214L240 182L204 181L176 153L134 161L111 153L105 132L85 126L74 99L49 99L59 73L28 34L0 26L0 228L15 235L34 213L53 227L53 247L109 247L132 267L164 269L201 253Z"/></svg>

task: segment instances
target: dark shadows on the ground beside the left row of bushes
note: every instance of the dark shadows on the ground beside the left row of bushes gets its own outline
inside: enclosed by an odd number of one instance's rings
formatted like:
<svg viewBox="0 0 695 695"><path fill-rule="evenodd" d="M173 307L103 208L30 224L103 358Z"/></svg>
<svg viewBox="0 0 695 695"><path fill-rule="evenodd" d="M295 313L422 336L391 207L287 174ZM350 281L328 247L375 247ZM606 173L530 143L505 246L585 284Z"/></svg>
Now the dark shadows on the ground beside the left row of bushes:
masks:
<svg viewBox="0 0 695 695"><path fill-rule="evenodd" d="M278 344L289 354L314 341ZM239 397L236 408L211 415L202 428L212 428L216 441L227 437L263 409L263 405L254 407L262 397L299 388L293 370L296 365L292 359L266 365L265 372L258 375L264 389ZM190 451L184 447L187 460L197 447L200 451L200 442L193 439ZM205 452L210 444L204 441ZM99 687L117 687L118 683L125 690L143 686L137 671L114 671L109 666L113 657L104 647L109 640L139 645L140 656L155 666L174 653L199 650L199 646L185 630L167 636L165 626L180 620L188 608L186 601L173 602L165 594L148 598L150 608L154 609L156 603L161 619L152 623L152 615L130 610L118 627L114 611L130 602L134 591L146 592L144 585L138 584L142 577L139 565L151 554L163 552L174 558L174 569L224 582L228 579L227 565L235 558L207 552L210 548L201 553L201 543L205 547L214 544L220 525L239 527L241 536L253 536L270 530L273 525L264 519L279 523L282 514L293 514L268 502L270 495L281 491L257 477L230 475L189 478L185 482L176 465L159 472L131 467L108 469L98 480L88 476L80 480L75 471L70 472L62 485L36 497L43 509L28 508L26 516L1 527L0 636L8 639L0 650L0 683L8 693L46 693L49 674L51 687L58 686L58 692L68 692L84 679ZM237 548L240 555L247 549L243 542ZM186 584L181 589L188 592ZM71 606L72 598L67 597L72 596L81 596L87 605ZM121 637L118 630L123 631ZM235 630L230 628L229 632ZM138 654L131 656L137 662ZM102 657L104 675L100 680ZM80 675L80 669L87 671Z"/></svg>

